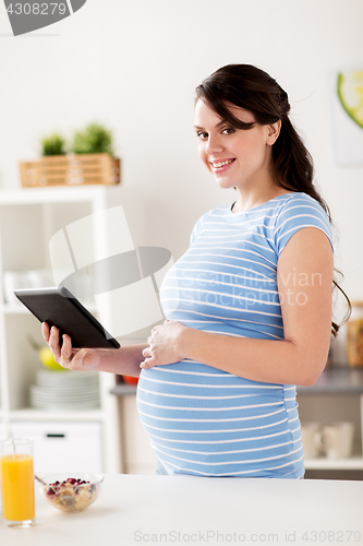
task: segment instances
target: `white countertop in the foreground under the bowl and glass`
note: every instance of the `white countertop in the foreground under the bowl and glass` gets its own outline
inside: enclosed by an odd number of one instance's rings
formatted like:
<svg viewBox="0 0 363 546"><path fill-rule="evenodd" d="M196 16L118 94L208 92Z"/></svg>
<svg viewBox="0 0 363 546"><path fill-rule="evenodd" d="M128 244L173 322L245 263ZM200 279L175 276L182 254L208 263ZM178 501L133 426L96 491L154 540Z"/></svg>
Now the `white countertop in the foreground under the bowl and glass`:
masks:
<svg viewBox="0 0 363 546"><path fill-rule="evenodd" d="M1 521L1 546L363 545L363 482L108 474L74 514L36 491L36 524Z"/></svg>

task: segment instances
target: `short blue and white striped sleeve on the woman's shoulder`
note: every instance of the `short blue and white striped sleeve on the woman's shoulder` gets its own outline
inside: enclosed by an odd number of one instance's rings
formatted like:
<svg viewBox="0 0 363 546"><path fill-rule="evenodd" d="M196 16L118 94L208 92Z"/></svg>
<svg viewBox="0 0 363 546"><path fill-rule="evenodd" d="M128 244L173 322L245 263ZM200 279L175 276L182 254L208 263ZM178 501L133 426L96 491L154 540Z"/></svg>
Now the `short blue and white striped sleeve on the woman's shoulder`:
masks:
<svg viewBox="0 0 363 546"><path fill-rule="evenodd" d="M281 206L274 229L274 245L277 256L290 238L303 227L317 227L328 237L331 248L332 232L329 218L319 203L307 194L294 194Z"/></svg>

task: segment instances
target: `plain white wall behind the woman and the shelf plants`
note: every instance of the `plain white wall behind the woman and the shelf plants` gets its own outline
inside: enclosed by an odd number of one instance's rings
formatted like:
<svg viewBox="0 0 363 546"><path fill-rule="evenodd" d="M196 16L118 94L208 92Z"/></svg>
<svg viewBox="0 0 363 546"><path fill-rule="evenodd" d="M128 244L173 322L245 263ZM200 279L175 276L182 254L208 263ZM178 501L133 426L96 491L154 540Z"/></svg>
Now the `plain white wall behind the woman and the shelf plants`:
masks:
<svg viewBox="0 0 363 546"><path fill-rule="evenodd" d="M17 162L38 156L43 135L104 122L114 131L124 191L135 195L132 214L137 200L146 204L143 242L178 258L197 217L234 197L199 165L194 88L223 64L256 64L290 96L337 227L342 286L362 299L363 165L336 164L329 107L329 74L363 68L362 22L361 0L87 0L15 38L2 4L1 187L20 186Z"/></svg>

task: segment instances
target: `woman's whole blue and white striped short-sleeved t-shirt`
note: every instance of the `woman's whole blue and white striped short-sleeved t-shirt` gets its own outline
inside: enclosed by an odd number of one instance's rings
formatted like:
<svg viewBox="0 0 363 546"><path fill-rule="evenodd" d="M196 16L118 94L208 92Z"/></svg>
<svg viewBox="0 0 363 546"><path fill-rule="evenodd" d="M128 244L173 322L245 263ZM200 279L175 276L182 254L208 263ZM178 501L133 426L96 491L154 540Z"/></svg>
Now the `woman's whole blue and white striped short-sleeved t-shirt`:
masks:
<svg viewBox="0 0 363 546"><path fill-rule="evenodd" d="M166 318L223 335L283 340L277 261L290 237L311 226L331 244L327 215L305 193L241 213L230 205L209 211L164 278ZM294 385L251 381L185 359L142 370L137 407L168 474L304 474Z"/></svg>

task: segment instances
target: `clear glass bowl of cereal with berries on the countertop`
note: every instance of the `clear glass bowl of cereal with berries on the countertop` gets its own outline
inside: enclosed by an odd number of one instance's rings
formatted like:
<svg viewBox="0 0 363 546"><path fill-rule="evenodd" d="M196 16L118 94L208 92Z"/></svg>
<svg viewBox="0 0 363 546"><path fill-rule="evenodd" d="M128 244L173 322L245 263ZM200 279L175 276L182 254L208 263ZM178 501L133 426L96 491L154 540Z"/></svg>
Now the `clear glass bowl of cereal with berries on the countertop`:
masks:
<svg viewBox="0 0 363 546"><path fill-rule="evenodd" d="M62 512L80 512L95 502L100 494L104 476L88 473L59 473L41 478L40 492Z"/></svg>

